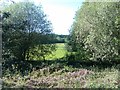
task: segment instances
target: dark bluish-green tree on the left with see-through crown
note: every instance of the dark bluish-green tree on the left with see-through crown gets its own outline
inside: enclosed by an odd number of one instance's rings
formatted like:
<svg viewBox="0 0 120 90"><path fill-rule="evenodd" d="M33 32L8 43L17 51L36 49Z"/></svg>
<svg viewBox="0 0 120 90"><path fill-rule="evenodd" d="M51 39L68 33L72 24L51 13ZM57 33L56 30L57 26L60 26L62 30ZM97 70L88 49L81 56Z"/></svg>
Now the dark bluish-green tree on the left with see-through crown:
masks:
<svg viewBox="0 0 120 90"><path fill-rule="evenodd" d="M38 57L42 57L55 50L54 45L49 44L49 35L52 34L51 23L41 6L31 2L20 2L4 7L2 12L10 13L10 17L2 21L4 59L7 57L25 60L30 59L34 52L39 54ZM42 52L35 51L35 48Z"/></svg>

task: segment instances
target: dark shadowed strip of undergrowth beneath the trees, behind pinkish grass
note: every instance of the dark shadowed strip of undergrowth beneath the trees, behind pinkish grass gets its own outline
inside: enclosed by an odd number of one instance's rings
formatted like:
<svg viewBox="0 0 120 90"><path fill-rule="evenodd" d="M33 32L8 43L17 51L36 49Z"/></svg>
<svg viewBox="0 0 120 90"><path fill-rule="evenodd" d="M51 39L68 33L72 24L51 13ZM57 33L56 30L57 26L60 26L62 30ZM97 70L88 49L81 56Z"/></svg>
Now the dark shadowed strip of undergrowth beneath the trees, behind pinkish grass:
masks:
<svg viewBox="0 0 120 90"><path fill-rule="evenodd" d="M59 66L58 66L59 65ZM9 60L3 63L3 75L6 73L6 70L9 69L10 73L14 74L17 72L21 73L23 76L33 71L33 69L42 69L45 67L51 66L52 68L62 69L64 66L71 66L73 68L87 68L97 67L98 69L117 68L120 70L119 61L85 61L85 60L67 60L61 58L58 60L34 60L34 61L22 61L22 60Z"/></svg>

